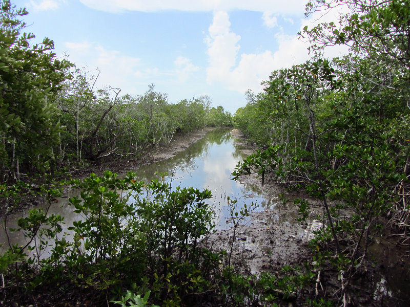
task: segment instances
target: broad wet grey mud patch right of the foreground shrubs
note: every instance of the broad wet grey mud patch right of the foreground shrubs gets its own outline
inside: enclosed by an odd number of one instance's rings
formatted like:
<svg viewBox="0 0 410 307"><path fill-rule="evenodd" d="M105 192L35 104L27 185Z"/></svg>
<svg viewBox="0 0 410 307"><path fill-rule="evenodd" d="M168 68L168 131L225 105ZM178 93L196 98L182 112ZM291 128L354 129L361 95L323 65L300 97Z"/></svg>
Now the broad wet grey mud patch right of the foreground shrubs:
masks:
<svg viewBox="0 0 410 307"><path fill-rule="evenodd" d="M240 225L233 245L232 264L247 274L275 272L285 265L301 265L309 259L308 226L284 222L282 217L292 213L279 213L275 209L251 213L251 221ZM214 250L230 251L233 229L212 234L207 244Z"/></svg>

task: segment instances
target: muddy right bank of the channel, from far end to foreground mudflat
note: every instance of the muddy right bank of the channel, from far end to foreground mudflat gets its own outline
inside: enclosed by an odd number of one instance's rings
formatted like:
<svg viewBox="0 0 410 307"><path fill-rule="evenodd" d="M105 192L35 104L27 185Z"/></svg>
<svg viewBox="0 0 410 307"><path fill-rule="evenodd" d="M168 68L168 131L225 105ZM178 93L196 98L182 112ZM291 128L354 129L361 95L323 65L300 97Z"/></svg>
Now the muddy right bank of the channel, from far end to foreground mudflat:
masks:
<svg viewBox="0 0 410 307"><path fill-rule="evenodd" d="M248 143L237 129L233 129L231 134L245 155L255 151L256 147ZM260 187L260 178L255 175L242 176L240 181ZM297 208L290 203L284 204L280 198L284 191L271 184L260 189L271 200L271 207L255 210L261 212L251 212L247 222L239 225L235 231L231 262L247 274L274 273L284 265L302 264L310 256L307 243L312 238L312 227L318 225L313 220L310 223L299 223ZM237 205L241 207L243 202ZM247 205L249 207L250 203ZM229 220L228 217L227 223L231 223ZM207 239L207 246L229 252L233 234L233 228L218 230Z"/></svg>

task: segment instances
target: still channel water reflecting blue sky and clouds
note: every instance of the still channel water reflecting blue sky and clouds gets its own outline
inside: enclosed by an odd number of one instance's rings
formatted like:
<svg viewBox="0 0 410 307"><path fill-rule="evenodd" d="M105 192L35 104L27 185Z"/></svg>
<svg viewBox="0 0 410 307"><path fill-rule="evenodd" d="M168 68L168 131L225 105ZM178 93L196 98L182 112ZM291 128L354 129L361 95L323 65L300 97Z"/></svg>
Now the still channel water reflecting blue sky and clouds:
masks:
<svg viewBox="0 0 410 307"><path fill-rule="evenodd" d="M215 224L217 229L228 229L229 210L227 197L238 199L238 205L252 202L259 205L259 210L270 206L271 201L265 200L261 190L257 186L246 185L232 179L232 171L235 165L244 158L241 147L234 143L234 137L228 129L215 129L210 131L206 137L199 140L186 150L179 152L175 157L142 166L134 170L137 180L151 181L161 179L163 173L167 176L163 180L171 183L172 188L195 187L199 189L209 189L213 198L208 200L215 213ZM72 226L73 221L80 217L73 212L74 208L67 204L68 197L74 196L77 192L71 192L58 200L49 209L49 214L60 214L64 217L65 225L63 232ZM31 208L29 208L31 209ZM19 217L25 216L28 209L8 217L8 227L16 227ZM9 233L12 244L25 245L25 238L19 233ZM4 224L0 229L0 243L3 247L0 252L8 247L7 237L4 233ZM3 250L2 250L3 249Z"/></svg>

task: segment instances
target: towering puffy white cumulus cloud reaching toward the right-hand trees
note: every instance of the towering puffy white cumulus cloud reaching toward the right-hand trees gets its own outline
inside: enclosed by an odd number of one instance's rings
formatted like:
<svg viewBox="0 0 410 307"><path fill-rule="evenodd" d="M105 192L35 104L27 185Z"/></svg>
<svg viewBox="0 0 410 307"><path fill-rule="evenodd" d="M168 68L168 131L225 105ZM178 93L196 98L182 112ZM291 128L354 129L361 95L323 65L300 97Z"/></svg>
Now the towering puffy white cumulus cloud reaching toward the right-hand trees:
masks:
<svg viewBox="0 0 410 307"><path fill-rule="evenodd" d="M315 16L306 20L302 27L313 21ZM278 69L290 68L292 65L303 63L310 59L308 54L309 42L299 39L297 35L277 33L276 51L266 50L259 53L238 56L240 51L240 36L230 29L229 15L226 12L216 12L213 23L209 27L209 34L205 38L208 46L209 66L207 68L207 82L219 82L233 91L244 93L251 89L260 92L260 83L267 80L270 74ZM327 48L324 56L332 58L347 52L347 48L335 46ZM239 59L238 59L239 58Z"/></svg>

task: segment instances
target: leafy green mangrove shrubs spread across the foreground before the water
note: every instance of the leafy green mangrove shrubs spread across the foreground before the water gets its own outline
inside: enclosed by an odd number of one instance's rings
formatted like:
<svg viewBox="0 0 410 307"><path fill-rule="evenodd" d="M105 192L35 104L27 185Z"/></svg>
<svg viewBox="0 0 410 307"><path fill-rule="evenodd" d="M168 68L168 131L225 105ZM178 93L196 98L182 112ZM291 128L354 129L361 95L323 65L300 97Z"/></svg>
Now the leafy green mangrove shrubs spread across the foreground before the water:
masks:
<svg viewBox="0 0 410 307"><path fill-rule="evenodd" d="M286 267L280 276L243 276L230 264L232 249L213 251L203 240L213 229L209 190L171 188L153 180L137 182L106 171L74 181L80 195L69 205L78 214L63 233L64 219L49 214L58 195L46 190L45 210L18 220L27 239L0 255L6 305L181 306L276 305L294 298L314 273ZM235 223L247 207L231 202ZM5 227L9 229L7 218ZM232 237L234 242L235 237Z"/></svg>

